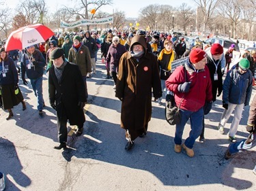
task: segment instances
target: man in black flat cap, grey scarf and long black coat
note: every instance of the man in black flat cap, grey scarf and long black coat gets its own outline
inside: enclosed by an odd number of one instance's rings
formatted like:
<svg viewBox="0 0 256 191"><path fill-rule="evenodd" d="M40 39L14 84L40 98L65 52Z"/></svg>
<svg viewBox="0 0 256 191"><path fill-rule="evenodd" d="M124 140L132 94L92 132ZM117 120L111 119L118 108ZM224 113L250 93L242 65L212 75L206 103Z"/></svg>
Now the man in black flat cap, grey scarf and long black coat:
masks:
<svg viewBox="0 0 256 191"><path fill-rule="evenodd" d="M67 121L77 125L76 136L82 135L85 114L83 107L87 102L85 85L77 65L68 63L62 48L55 48L50 55L53 66L49 69L49 100L51 107L57 111L59 145L54 148L66 148L68 139Z"/></svg>

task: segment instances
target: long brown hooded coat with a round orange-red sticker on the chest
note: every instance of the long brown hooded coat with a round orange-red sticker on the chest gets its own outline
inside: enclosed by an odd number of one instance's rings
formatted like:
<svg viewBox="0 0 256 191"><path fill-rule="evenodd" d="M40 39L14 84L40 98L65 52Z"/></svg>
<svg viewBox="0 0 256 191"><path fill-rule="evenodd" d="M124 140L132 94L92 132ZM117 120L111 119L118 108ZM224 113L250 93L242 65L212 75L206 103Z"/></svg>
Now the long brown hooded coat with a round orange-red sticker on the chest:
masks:
<svg viewBox="0 0 256 191"><path fill-rule="evenodd" d="M147 48L140 35L132 38L131 48L134 43ZM147 131L152 115L152 88L155 98L162 97L156 56L145 51L138 62L130 52L124 53L119 62L115 97L122 99L121 127L128 129L132 140Z"/></svg>

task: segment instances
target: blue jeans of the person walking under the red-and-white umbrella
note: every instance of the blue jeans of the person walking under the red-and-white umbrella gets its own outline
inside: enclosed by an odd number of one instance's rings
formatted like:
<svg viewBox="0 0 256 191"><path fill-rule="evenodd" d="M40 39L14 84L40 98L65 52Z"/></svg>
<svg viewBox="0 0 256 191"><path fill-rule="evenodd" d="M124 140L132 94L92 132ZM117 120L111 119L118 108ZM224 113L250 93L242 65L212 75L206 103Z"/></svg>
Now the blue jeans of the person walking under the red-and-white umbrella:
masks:
<svg viewBox="0 0 256 191"><path fill-rule="evenodd" d="M36 79L30 79L33 92L35 92L35 97L38 97L38 110L43 109L44 99L42 97L42 77Z"/></svg>

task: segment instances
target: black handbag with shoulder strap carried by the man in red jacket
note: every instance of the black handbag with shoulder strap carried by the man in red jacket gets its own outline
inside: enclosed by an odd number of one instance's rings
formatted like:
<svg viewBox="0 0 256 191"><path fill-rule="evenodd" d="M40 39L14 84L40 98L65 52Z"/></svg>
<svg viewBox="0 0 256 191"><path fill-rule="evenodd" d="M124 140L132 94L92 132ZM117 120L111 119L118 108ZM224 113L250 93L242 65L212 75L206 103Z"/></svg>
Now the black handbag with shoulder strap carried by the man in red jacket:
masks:
<svg viewBox="0 0 256 191"><path fill-rule="evenodd" d="M186 82L186 68L183 65L183 68L185 70L185 82ZM167 122L171 125L179 124L180 123L180 105L182 104L184 94L182 96L182 101L180 102L179 107L177 107L174 99L174 95L168 95L168 99L166 101L165 105L165 119Z"/></svg>

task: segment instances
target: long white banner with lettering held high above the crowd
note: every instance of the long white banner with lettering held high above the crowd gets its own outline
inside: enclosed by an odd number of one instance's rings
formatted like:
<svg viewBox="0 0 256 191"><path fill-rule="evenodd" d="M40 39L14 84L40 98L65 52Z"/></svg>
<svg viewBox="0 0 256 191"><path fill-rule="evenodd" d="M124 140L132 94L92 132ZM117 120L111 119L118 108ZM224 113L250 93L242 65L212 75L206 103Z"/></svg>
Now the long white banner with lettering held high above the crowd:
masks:
<svg viewBox="0 0 256 191"><path fill-rule="evenodd" d="M89 24L107 24L107 23L113 23L113 16L109 16L106 18L98 18L94 20L89 20L89 19L81 19L81 20L76 20L74 22L65 22L61 20L61 26L63 28L74 28L74 27L80 27L80 26L85 26Z"/></svg>

